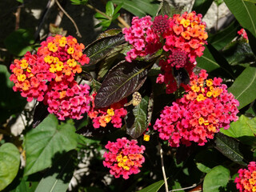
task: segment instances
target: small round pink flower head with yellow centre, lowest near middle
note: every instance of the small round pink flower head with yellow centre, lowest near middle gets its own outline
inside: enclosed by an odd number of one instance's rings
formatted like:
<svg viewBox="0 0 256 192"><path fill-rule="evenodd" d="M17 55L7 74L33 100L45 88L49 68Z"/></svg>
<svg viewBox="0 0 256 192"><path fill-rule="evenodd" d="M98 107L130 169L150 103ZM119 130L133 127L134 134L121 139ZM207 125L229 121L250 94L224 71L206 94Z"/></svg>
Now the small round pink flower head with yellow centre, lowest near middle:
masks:
<svg viewBox="0 0 256 192"><path fill-rule="evenodd" d="M129 178L130 174L138 174L139 168L145 162L143 152L145 146L138 146L136 140L129 141L127 138L118 138L116 142L108 142L103 157L103 165L110 168L110 174L115 178Z"/></svg>

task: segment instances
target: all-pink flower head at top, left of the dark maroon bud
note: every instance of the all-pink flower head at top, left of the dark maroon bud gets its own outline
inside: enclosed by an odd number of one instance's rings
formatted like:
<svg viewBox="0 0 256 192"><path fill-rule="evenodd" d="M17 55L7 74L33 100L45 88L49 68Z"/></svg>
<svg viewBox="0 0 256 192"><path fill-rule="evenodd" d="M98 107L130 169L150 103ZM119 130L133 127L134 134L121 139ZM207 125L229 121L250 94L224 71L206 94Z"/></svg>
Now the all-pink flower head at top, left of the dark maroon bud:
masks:
<svg viewBox="0 0 256 192"><path fill-rule="evenodd" d="M150 16L134 17L132 26L129 29L124 28L122 30L126 41L132 45L132 49L126 54L126 61L131 62L138 56L143 57L152 54L161 48L158 35L154 33L152 25L153 22L151 22Z"/></svg>

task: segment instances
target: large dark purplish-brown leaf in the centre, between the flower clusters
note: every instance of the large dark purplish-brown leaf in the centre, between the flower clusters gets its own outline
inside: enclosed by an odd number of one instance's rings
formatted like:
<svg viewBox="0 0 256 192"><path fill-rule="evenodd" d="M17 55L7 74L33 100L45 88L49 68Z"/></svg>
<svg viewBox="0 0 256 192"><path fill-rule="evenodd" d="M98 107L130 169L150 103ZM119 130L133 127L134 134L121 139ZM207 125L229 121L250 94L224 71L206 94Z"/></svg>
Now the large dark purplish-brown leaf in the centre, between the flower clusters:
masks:
<svg viewBox="0 0 256 192"><path fill-rule="evenodd" d="M146 80L146 74L154 62L119 62L102 82L96 94L96 108L110 106L138 90Z"/></svg>

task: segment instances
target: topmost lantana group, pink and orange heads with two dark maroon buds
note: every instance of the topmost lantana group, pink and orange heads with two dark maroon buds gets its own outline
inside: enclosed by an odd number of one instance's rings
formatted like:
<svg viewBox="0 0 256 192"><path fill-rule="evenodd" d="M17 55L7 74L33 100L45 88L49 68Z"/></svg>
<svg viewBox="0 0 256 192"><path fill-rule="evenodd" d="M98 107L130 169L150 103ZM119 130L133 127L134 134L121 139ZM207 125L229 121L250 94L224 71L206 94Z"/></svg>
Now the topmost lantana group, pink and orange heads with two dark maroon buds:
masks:
<svg viewBox="0 0 256 192"><path fill-rule="evenodd" d="M189 74L196 65L195 58L201 57L207 43L206 23L202 22L202 14L174 14L173 18L159 15L151 22L150 16L133 18L132 26L124 29L126 41L132 49L126 54L126 60L131 62L137 57L153 54L164 50L159 62L163 74L159 74L158 83L166 84L166 93L177 90L173 76L173 67L177 70L185 68Z"/></svg>

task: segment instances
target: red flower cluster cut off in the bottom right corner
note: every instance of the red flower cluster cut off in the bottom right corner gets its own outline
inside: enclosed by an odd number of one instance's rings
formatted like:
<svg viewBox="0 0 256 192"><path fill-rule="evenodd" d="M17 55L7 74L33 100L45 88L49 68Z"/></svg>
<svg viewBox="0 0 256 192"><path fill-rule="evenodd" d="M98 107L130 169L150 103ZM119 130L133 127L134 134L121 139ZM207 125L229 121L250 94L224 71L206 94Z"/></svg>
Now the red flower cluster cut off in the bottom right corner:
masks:
<svg viewBox="0 0 256 192"><path fill-rule="evenodd" d="M234 179L237 189L241 192L256 191L256 162L250 162L248 169L238 170L238 177Z"/></svg>

